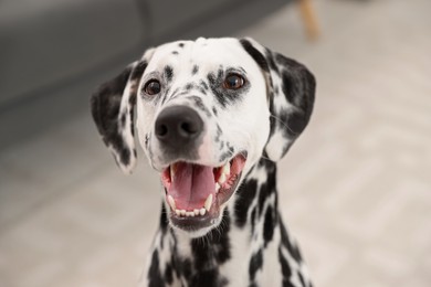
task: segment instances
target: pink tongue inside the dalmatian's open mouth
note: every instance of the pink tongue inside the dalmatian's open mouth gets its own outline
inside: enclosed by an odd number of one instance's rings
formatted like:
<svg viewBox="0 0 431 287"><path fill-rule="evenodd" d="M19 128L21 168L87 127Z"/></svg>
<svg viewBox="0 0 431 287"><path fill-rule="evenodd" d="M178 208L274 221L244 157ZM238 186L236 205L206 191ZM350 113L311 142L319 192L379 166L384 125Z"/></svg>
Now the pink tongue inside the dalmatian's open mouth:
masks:
<svg viewBox="0 0 431 287"><path fill-rule="evenodd" d="M180 162L168 193L175 199L178 210L201 209L211 193L216 192L211 167Z"/></svg>

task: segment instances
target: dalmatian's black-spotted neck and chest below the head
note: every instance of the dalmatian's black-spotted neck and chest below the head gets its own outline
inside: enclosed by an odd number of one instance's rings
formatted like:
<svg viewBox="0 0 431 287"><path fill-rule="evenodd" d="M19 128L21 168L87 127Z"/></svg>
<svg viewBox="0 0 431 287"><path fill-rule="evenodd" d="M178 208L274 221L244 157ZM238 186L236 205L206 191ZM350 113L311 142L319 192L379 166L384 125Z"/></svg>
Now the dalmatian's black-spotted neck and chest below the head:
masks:
<svg viewBox="0 0 431 287"><path fill-rule="evenodd" d="M275 177L275 163L261 159L209 231L172 228L164 203L139 286L312 286L283 225Z"/></svg>

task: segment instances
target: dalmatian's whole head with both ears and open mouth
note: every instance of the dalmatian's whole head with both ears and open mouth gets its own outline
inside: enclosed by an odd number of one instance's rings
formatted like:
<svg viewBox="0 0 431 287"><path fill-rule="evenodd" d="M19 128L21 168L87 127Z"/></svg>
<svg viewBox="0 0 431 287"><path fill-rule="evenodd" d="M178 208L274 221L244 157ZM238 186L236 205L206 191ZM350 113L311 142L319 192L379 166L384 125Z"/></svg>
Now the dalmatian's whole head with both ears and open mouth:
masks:
<svg viewBox="0 0 431 287"><path fill-rule="evenodd" d="M136 162L137 124L170 223L200 236L219 225L261 157L286 153L308 123L314 92L303 65L251 39L198 39L148 50L101 86L92 114L125 172Z"/></svg>

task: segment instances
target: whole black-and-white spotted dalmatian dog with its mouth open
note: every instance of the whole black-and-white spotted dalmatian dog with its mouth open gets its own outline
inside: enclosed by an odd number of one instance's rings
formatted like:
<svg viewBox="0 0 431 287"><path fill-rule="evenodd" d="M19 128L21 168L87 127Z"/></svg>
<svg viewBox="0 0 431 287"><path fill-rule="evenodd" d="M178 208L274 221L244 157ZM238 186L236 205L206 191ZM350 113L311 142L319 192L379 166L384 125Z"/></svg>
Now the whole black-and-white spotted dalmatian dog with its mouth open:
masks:
<svg viewBox="0 0 431 287"><path fill-rule="evenodd" d="M312 286L278 210L276 162L314 94L304 65L231 38L149 49L94 93L93 118L119 168L134 169L136 134L160 174L139 286Z"/></svg>

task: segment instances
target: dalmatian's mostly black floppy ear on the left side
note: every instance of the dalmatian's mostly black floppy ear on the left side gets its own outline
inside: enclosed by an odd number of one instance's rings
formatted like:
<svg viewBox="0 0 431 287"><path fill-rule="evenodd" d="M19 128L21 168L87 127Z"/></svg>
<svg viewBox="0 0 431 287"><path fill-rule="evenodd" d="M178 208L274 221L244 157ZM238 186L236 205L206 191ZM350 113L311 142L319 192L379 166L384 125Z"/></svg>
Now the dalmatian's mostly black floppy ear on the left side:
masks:
<svg viewBox="0 0 431 287"><path fill-rule="evenodd" d="M134 108L139 82L153 52L147 51L141 60L102 84L91 99L97 130L125 173L132 173L136 166Z"/></svg>

